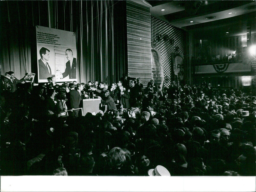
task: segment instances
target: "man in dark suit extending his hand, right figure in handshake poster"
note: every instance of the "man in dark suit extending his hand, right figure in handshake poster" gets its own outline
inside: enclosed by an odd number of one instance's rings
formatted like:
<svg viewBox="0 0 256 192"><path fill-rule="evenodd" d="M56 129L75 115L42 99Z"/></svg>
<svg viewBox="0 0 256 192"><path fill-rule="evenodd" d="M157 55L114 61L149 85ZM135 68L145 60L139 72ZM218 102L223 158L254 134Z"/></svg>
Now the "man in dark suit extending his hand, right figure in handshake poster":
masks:
<svg viewBox="0 0 256 192"><path fill-rule="evenodd" d="M76 79L76 58L73 57L71 49L66 50L66 57L68 62L66 63L65 72L60 75L60 78L65 78L69 75L69 79Z"/></svg>

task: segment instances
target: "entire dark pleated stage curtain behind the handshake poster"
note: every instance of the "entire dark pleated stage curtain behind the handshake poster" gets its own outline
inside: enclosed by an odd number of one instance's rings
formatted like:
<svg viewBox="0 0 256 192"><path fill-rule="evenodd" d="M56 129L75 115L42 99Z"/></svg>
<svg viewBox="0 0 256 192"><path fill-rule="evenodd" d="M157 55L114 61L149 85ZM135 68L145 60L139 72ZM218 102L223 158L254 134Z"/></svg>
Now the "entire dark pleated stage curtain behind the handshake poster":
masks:
<svg viewBox="0 0 256 192"><path fill-rule="evenodd" d="M125 1L1 1L0 11L1 75L35 72L36 25L76 33L80 82L116 82L127 68Z"/></svg>

